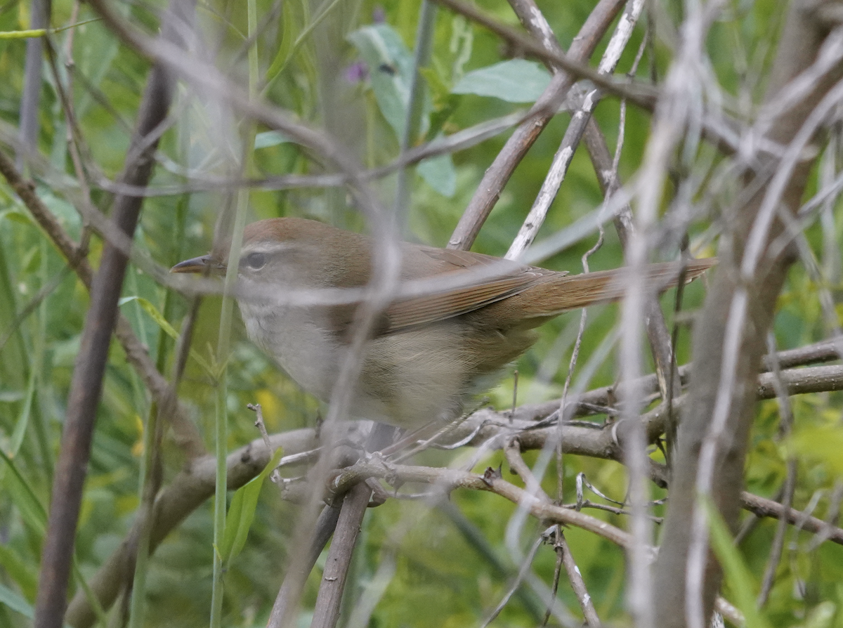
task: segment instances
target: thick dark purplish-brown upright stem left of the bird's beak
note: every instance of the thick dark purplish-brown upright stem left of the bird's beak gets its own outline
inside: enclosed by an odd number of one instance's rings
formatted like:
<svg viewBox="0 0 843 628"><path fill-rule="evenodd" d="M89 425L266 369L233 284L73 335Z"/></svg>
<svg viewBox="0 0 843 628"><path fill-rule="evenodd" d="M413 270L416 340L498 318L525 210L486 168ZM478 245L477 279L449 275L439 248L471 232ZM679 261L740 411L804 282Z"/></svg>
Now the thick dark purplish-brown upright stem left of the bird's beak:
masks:
<svg viewBox="0 0 843 628"><path fill-rule="evenodd" d="M165 31L169 31L165 36L175 35L172 27L165 25ZM143 185L152 174L151 149L156 142L142 145L164 119L173 88L172 75L164 67L153 67L138 115L137 133L126 156L122 177L134 185ZM127 237L132 237L135 231L141 205L142 199L137 197L118 196L115 199L112 219ZM85 318L82 343L73 369L62 449L53 482L50 518L35 601L35 628L61 628L63 623L67 580L94 435L94 419L102 391L111 332L117 319L117 299L120 297L127 263L126 255L107 243L99 271L91 286L91 307Z"/></svg>

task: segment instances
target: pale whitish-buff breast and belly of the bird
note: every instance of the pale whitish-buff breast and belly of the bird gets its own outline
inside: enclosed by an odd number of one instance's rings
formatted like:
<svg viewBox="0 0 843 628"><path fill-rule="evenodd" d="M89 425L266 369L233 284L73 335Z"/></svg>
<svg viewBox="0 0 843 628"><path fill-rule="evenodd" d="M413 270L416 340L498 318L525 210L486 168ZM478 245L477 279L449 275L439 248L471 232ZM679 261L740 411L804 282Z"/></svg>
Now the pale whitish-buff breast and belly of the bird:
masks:
<svg viewBox="0 0 843 628"><path fill-rule="evenodd" d="M299 386L330 401L349 347L301 309L240 307L250 340ZM463 401L493 384L492 373L511 359L493 359L497 368L478 369L466 359L465 336L450 321L369 341L348 415L409 428L459 416Z"/></svg>

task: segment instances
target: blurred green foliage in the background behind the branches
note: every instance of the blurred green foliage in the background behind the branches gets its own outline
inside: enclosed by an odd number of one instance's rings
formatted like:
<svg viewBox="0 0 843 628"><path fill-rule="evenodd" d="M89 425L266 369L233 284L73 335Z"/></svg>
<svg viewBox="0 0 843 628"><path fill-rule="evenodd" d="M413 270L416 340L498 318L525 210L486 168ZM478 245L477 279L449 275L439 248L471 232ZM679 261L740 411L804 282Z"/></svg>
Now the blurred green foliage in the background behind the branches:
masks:
<svg viewBox="0 0 843 628"><path fill-rule="evenodd" d="M506 3L483 0L478 4L497 19L517 24ZM679 3L665 4L668 15L679 19ZM158 2L118 6L133 22L155 32L158 11L163 5ZM542 5L564 47L570 45L591 9L590 3ZM376 72L380 72L378 79L384 79L384 74L389 75L396 68L388 61L381 61L377 66L363 63L367 61L366 55L352 45L352 34L373 29L376 24L378 29L395 37L396 43L402 43L402 50L412 51L419 3L259 0L258 6L261 15L269 16L261 24L256 41L260 70L266 78L264 97L299 120L324 128L367 167L389 164L398 153L399 140L395 120L390 120L389 112L384 112L375 83ZM763 79L758 78L765 75L775 50L775 34L783 10L775 0L729 3L727 18L718 21L711 30L707 42L711 71L732 94L736 109L746 115L763 94ZM29 11L29 5L19 0L3 3L0 30L28 28ZM84 3L76 5L68 0L52 3L54 27L92 18L95 15ZM223 72L241 81L247 72L245 19L238 3L212 0L197 8L197 24L208 58L213 58ZM641 77L651 72L663 76L678 36L676 24L660 24L664 32L660 33L656 58L645 56L638 71ZM642 33L639 28L633 37L620 62L620 72L631 67ZM54 35L51 42L58 55L59 77L45 64L37 147L45 164L34 163L30 171L42 200L67 233L78 240L83 221L72 201L78 195L79 181L67 152L67 120L56 80L61 80L65 88L72 85L72 102L82 142L80 150L89 165L92 199L107 212L111 195L99 177L114 180L121 171L149 66L99 21L64 30ZM72 70L64 65L68 46L72 46ZM430 94L427 126L422 135L450 134L523 106L513 104L513 100L517 101L515 97L481 95L495 93L496 89L512 89L511 83L507 83L508 87L499 84L499 77L486 77L482 89L463 87L457 90L459 94L453 90L458 83L464 85L466 78L477 78L475 72L479 70L512 62L515 52L486 30L440 9L432 62L422 72ZM401 62L407 59L402 57ZM541 72L535 64L531 67ZM0 39L3 76L0 131L4 143L19 124L23 68L24 40ZM484 75L479 76L482 81ZM618 103L607 99L595 117L607 133L609 145L614 147L620 120ZM494 255L505 253L540 189L567 121L566 114L556 116L519 165L483 228L475 250ZM648 130L646 114L633 108L627 110L626 139L620 158L622 179L633 175L641 164ZM259 131L271 130L260 128ZM447 243L484 170L501 150L506 137L507 134L502 134L454 154L453 161L448 160L443 170L426 174L427 180L415 177L412 205L405 208L409 218L408 239L438 246ZM418 142L422 139L416 138ZM314 164L283 137L262 136L261 142L255 150L259 176L321 172L319 164ZM153 188L178 188L188 180L234 176L237 156L242 153L240 143L237 116L209 94L197 93L196 89L182 84L172 111L172 125L164 133L159 148ZM7 149L8 146L4 147ZM580 150L573 160L540 238L573 223L599 207L602 201L592 165L582 153ZM452 177L453 185L444 185L437 176ZM373 186L389 206L395 196L395 178L375 181ZM443 195L441 191L448 194ZM303 216L346 228L365 228L362 218L346 207L346 200L342 189L255 189L251 193L251 212L255 219ZM716 214L729 201L728 198L713 201L711 212ZM211 244L218 213L231 202L232 194L225 191L150 196L135 240L137 255L165 269L185 257L205 252ZM839 229L843 224L839 207L835 208L835 217L838 233L831 234L831 242L839 243ZM692 243L703 242L708 227L708 224L692 225ZM823 259L827 235L819 225L806 232L807 245L818 259ZM576 271L581 268L581 256L592 244L593 239L579 243L545 260L544 265ZM101 241L94 237L90 247L94 266L101 247ZM707 250L706 254L710 252ZM668 247L662 253L670 258L676 250ZM620 245L609 228L604 246L590 260L591 267L593 270L609 268L619 265L621 260ZM45 287L49 287L46 296L34 300ZM839 294L840 286L836 289ZM698 307L703 294L702 282L689 287L685 309ZM164 373L170 373L173 343L162 341L161 326L139 299L149 303L176 330L187 308L185 299L168 293L134 265L126 275L123 296L134 299L126 300L121 306L122 313L131 320L153 360ZM670 295L664 303L669 311ZM0 462L0 495L3 496L0 498L0 625L26 625L26 609L35 600L44 513L49 503L67 388L88 305L87 293L76 277L66 271L64 260L8 186L4 182L0 184L0 448L5 454ZM206 298L194 335L194 351L206 359L209 343L213 344L217 337L218 312L218 299ZM596 308L588 314L580 365L593 355L616 320L615 306ZM553 399L560 394L577 325L577 314L570 314L540 330L541 341L517 365L519 403ZM229 368L228 447L239 447L259 436L252 425L251 413L245 409L247 403L258 402L263 406L270 432L313 425L320 412L319 404L303 394L245 340L242 325L235 335ZM817 287L804 271L794 269L781 295L776 340L781 348L786 348L826 335L828 329L819 308ZM686 331L679 336L680 362L690 359L689 336ZM609 359L599 365L591 385L610 384L616 374L615 360ZM188 362L180 396L191 408L192 418L205 435L207 446L212 447L214 383L196 360ZM512 378L491 391L490 397L498 407L508 407L513 399ZM785 476L787 458L796 455L800 464L795 506L803 508L810 504L816 507L813 514L822 517L826 514L823 508L827 507L828 496L840 486L843 473L840 395L810 395L791 402L795 432L787 439L779 434L776 402L760 405L749 452L747 488L763 496L775 496ZM137 478L143 429L150 411L148 391L127 365L121 347L114 343L78 527L76 556L83 577L90 577L96 571L121 543L133 522L139 502ZM179 472L185 460L174 443L168 441L164 447L166 481ZM422 462L448 464L454 462L454 457L466 460L470 454L473 452L429 453ZM534 453L525 455L529 464L534 464L536 458ZM499 464L502 456L493 454L482 459L476 469L497 468ZM605 494L623 499L626 473L620 464L566 455L565 502L573 501L574 481L580 472ZM504 474L508 480L519 481L505 467ZM556 495L552 481L555 477L556 470L551 464L545 474L545 489L551 495ZM652 493L653 498L663 496L663 491L655 488ZM657 514L661 510L657 507ZM371 510L362 530L361 551L349 593L359 594L381 573L383 565L394 564L394 573L369 625L420 628L479 625L507 591L520 557L542 531L530 520L524 529L507 535L513 524L513 511L512 504L497 496L469 491L457 491L448 498L443 496L440 502L390 500ZM260 491L248 541L226 572L225 625L265 624L281 582L297 512L298 507L279 499L275 486L266 483ZM626 524L621 516L591 512L617 525ZM749 572L763 572L775 528L775 521L760 521L739 545L735 559L744 561ZM473 541L472 533L485 539L485 544ZM626 625L622 550L580 529L569 529L565 534L600 617L615 625ZM770 603L763 611L770 625L843 626L840 610L843 548L829 543L814 547L812 538L796 529L788 531L786 556L779 567ZM186 628L207 624L211 543L212 517L208 504L170 534L155 553L148 577L147 625ZM555 560L552 550L546 546L534 560L535 572L545 582L551 580ZM308 582L305 606L313 603L318 585L319 569ZM76 586L78 582L74 583ZM567 609L579 616L577 600L564 577L559 595ZM541 619L536 615L537 608L541 609L541 605L535 594L519 590L492 625L537 625ZM306 625L307 619L303 617L301 625Z"/></svg>

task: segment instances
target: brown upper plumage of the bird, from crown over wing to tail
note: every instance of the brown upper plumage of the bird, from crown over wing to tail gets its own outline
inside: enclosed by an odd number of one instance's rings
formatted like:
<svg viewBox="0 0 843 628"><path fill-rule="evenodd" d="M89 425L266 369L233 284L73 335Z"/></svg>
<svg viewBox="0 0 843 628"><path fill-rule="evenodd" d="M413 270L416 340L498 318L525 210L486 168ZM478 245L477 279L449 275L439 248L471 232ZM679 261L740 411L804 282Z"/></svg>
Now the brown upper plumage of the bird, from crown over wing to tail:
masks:
<svg viewBox="0 0 843 628"><path fill-rule="evenodd" d="M309 259L319 259L319 263L300 269L300 276L314 286L365 285L371 276L372 252L377 251L367 236L303 218L272 218L247 226L244 247L261 240L291 241L304 249L318 246L319 257L311 255ZM569 275L470 251L410 243L401 246L402 287L384 312L379 334L464 314L480 315L483 309L489 309L491 318L503 326L529 328L566 310L622 298L629 284L626 268ZM651 264L645 267L643 285L660 292L675 286L681 272L690 282L716 263L712 258ZM342 328L352 324L356 308L346 304L334 309L331 318L336 331L342 333Z"/></svg>

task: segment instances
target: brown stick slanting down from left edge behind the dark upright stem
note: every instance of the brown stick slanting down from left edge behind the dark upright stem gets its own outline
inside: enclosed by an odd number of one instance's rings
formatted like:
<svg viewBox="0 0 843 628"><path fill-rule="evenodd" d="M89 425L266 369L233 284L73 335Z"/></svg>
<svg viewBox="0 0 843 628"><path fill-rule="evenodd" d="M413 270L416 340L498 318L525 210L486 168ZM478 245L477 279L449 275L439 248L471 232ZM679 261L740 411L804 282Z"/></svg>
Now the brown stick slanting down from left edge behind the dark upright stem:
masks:
<svg viewBox="0 0 843 628"><path fill-rule="evenodd" d="M24 180L18 170L14 168L11 159L6 157L4 153L0 153L0 174L3 174L8 184L12 186L20 200L23 201L24 206L35 218L35 222L40 225L40 228L45 231L59 253L67 260L67 266L76 273L79 281L90 291L94 271L91 270L83 250L67 235L44 202L35 193L35 184L30 180ZM146 348L137 339L137 335L132 330L132 324L123 314L117 314L117 325L114 333L117 340L120 341L123 351L126 352L126 360L132 364L132 368L142 379L143 384L153 396L153 400L164 406L165 400L173 395L172 390L167 379L158 372L158 368L155 367ZM205 454L205 446L202 443L201 436L196 426L188 418L188 413L183 405L180 403L175 405L169 421L172 421L176 442L185 450L188 459L195 459Z"/></svg>

